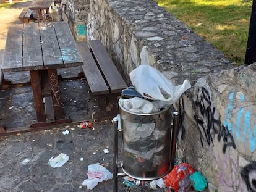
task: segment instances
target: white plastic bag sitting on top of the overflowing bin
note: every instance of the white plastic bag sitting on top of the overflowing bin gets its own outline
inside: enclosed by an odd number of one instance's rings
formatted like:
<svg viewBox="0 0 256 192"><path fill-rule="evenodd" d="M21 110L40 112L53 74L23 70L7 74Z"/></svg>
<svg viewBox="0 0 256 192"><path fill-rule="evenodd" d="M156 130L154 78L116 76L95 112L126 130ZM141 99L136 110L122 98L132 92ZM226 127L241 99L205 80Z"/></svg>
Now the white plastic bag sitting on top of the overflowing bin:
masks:
<svg viewBox="0 0 256 192"><path fill-rule="evenodd" d="M150 65L139 65L130 72L130 81L135 90L145 98L158 101L168 101L172 104L182 93L191 87L189 80L182 85L173 85L162 73Z"/></svg>

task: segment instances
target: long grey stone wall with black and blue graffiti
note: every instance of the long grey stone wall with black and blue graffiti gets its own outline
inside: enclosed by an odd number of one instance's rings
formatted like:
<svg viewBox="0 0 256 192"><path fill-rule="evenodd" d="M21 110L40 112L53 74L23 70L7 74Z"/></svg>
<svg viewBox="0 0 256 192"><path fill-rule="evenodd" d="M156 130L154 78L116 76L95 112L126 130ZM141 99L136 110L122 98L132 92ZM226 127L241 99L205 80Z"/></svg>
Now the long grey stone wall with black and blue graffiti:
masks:
<svg viewBox="0 0 256 192"><path fill-rule="evenodd" d="M86 16L85 16L86 17ZM179 85L178 152L208 180L208 190L256 191L255 65L237 67L151 0L91 0L87 38L100 39L117 68L141 64Z"/></svg>

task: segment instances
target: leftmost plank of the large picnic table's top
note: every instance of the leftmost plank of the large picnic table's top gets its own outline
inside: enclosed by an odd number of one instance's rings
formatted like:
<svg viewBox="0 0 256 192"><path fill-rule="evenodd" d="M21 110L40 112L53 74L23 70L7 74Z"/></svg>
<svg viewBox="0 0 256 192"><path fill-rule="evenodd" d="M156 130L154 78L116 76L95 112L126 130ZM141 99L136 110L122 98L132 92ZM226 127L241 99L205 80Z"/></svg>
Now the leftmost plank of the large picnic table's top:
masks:
<svg viewBox="0 0 256 192"><path fill-rule="evenodd" d="M23 25L10 25L9 27L2 72L15 72L22 69L22 31Z"/></svg>

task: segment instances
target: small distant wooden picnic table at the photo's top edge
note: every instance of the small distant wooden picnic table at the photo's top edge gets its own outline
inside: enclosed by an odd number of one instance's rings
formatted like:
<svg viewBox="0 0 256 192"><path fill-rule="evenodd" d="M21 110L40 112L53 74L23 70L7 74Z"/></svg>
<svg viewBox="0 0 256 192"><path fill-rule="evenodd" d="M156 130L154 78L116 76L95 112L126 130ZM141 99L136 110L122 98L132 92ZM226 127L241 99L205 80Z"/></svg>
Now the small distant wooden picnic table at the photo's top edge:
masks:
<svg viewBox="0 0 256 192"><path fill-rule="evenodd" d="M37 14L38 23L43 18L42 11L46 10L46 14L49 14L49 7L53 0L33 0L29 6L29 9L35 9Z"/></svg>

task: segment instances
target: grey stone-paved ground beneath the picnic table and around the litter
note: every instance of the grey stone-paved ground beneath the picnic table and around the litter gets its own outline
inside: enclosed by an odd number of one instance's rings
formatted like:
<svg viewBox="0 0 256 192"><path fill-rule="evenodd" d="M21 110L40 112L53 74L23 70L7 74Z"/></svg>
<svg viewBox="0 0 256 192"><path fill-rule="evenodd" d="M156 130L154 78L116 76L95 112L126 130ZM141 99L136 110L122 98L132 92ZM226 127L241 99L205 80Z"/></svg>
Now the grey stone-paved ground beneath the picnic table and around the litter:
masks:
<svg viewBox="0 0 256 192"><path fill-rule="evenodd" d="M25 6L28 6L28 2L19 2L12 9L0 9L1 46L5 40L6 27L10 23L19 23L17 17L21 11L20 7ZM6 19L3 19L4 17ZM0 52L3 50L1 47ZM76 77L79 71L79 68L75 68L60 70L58 73L67 78ZM22 130L36 121L31 87L20 84L28 82L29 75L5 75L7 80L11 80L16 86L0 91L0 125L4 125L7 130ZM60 87L64 114L73 120L72 123L56 125L46 130L0 135L1 192L113 191L112 180L98 183L93 190L81 185L87 178L90 164L103 165L112 172L111 119L92 121L92 128L80 128L80 122L90 120L90 113L97 109L97 98L90 96L87 82L83 78L61 81ZM64 131L69 131L69 134L64 135ZM105 153L105 149L109 152ZM48 164L49 159L61 153L67 154L69 161L62 167L51 167ZM122 182L123 178L119 178L118 191L163 191L160 188L151 190L147 186L127 188Z"/></svg>

